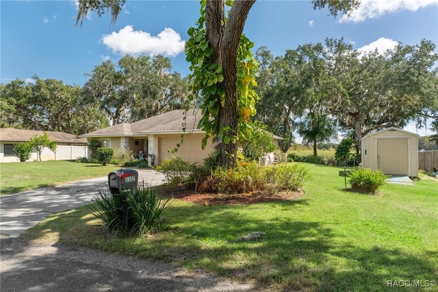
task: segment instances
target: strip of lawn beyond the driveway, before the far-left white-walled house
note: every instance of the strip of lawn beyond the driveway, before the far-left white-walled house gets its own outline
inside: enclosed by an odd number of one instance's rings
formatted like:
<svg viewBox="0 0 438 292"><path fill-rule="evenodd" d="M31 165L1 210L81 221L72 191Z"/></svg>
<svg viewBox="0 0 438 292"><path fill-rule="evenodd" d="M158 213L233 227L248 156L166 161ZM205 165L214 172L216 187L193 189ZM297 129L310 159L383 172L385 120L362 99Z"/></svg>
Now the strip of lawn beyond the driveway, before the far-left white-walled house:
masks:
<svg viewBox="0 0 438 292"><path fill-rule="evenodd" d="M0 163L0 195L104 176L117 166L66 160Z"/></svg>

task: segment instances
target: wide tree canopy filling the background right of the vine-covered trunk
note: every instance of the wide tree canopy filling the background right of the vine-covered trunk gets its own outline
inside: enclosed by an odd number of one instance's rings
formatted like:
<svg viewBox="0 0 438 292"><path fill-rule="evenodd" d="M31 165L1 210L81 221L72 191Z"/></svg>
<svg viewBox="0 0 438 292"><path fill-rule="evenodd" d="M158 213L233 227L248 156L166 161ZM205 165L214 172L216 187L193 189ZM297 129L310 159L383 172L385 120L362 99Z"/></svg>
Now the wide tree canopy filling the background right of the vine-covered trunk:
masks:
<svg viewBox="0 0 438 292"><path fill-rule="evenodd" d="M289 141L296 128L313 145L329 138L337 124L338 130L355 133L359 151L361 137L370 132L434 117L434 51L428 40L399 44L384 54L355 51L343 39L300 45L276 58L262 47L257 51L261 100L256 118ZM304 123L296 123L299 119Z"/></svg>

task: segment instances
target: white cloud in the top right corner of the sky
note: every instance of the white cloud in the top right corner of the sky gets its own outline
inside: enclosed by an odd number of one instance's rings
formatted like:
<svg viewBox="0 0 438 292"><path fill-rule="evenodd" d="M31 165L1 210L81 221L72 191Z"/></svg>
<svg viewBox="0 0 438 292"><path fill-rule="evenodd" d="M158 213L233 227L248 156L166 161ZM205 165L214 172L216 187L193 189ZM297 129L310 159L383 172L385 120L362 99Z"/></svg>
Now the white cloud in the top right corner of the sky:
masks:
<svg viewBox="0 0 438 292"><path fill-rule="evenodd" d="M430 5L438 5L438 0L361 0L359 8L350 16L342 16L340 23L359 23L365 19L378 19L379 17L400 10L416 11Z"/></svg>

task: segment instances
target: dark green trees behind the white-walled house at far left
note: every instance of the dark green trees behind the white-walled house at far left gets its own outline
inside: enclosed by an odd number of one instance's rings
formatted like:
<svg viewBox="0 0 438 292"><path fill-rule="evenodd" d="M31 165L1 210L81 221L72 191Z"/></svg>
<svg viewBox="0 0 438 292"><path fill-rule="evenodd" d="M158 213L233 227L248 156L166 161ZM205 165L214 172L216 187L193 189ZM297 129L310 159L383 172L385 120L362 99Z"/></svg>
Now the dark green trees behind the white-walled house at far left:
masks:
<svg viewBox="0 0 438 292"><path fill-rule="evenodd" d="M94 103L87 103L79 86L60 80L43 80L34 75L34 83L13 80L0 87L0 126L27 130L50 130L85 134L108 125Z"/></svg>

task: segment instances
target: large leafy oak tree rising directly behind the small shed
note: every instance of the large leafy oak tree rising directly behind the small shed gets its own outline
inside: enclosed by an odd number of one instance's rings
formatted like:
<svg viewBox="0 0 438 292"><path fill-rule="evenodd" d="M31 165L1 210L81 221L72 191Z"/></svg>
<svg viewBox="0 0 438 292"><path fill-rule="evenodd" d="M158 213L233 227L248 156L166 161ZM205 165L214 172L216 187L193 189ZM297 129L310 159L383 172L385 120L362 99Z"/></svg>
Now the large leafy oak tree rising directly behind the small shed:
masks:
<svg viewBox="0 0 438 292"><path fill-rule="evenodd" d="M398 45L381 55L360 53L344 40L326 40L331 110L339 124L362 136L386 127L403 127L430 108L438 60L435 45Z"/></svg>

